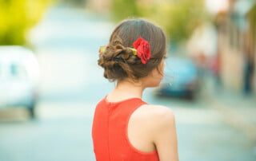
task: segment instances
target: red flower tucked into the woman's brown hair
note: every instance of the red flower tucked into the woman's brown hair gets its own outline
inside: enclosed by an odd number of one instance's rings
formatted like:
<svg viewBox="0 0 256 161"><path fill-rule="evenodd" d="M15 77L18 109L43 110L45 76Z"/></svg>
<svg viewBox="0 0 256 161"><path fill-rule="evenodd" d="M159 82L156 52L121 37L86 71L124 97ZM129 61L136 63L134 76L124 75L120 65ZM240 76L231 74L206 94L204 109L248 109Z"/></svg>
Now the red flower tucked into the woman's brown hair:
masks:
<svg viewBox="0 0 256 161"><path fill-rule="evenodd" d="M134 41L134 49L137 50L137 56L141 59L142 64L146 64L147 61L150 60L150 43L144 40L142 37L138 37L136 41Z"/></svg>

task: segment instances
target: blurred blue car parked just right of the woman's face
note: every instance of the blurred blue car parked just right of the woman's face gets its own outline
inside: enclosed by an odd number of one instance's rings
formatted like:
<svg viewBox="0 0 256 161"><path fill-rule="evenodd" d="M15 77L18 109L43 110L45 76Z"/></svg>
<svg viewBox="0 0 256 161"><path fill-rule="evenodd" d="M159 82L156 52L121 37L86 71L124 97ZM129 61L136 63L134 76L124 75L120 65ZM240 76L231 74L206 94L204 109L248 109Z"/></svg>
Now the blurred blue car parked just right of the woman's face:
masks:
<svg viewBox="0 0 256 161"><path fill-rule="evenodd" d="M170 57L157 94L194 99L198 91L198 69L190 59Z"/></svg>

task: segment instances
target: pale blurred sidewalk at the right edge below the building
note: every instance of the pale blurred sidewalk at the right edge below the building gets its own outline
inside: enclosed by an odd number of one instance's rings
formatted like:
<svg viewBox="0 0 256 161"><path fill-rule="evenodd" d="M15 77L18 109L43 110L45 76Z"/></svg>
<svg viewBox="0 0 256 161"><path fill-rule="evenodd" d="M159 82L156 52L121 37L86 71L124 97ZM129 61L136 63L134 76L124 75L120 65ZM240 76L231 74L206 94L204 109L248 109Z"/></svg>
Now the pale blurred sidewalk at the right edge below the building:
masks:
<svg viewBox="0 0 256 161"><path fill-rule="evenodd" d="M211 93L209 102L228 124L245 132L256 143L256 94L245 96L220 88Z"/></svg>

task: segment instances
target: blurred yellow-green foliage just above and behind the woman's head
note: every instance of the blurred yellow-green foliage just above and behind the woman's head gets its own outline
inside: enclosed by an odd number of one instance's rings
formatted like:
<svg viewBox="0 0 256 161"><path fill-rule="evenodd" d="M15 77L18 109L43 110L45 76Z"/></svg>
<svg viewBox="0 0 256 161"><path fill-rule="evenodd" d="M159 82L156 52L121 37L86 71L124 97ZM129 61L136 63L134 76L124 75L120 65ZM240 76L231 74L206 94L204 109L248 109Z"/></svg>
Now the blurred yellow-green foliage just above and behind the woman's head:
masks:
<svg viewBox="0 0 256 161"><path fill-rule="evenodd" d="M204 0L112 0L112 12L118 20L149 18L162 26L171 41L181 42L206 21Z"/></svg>

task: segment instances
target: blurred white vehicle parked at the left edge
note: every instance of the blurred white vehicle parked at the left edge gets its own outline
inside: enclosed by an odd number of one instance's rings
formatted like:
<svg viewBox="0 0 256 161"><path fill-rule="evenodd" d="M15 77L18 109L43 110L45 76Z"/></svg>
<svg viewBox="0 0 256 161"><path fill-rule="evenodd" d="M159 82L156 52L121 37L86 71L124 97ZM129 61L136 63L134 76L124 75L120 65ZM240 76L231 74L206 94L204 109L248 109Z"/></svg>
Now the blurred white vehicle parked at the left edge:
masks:
<svg viewBox="0 0 256 161"><path fill-rule="evenodd" d="M34 118L38 95L38 60L22 46L0 46L0 108L26 107Z"/></svg>

